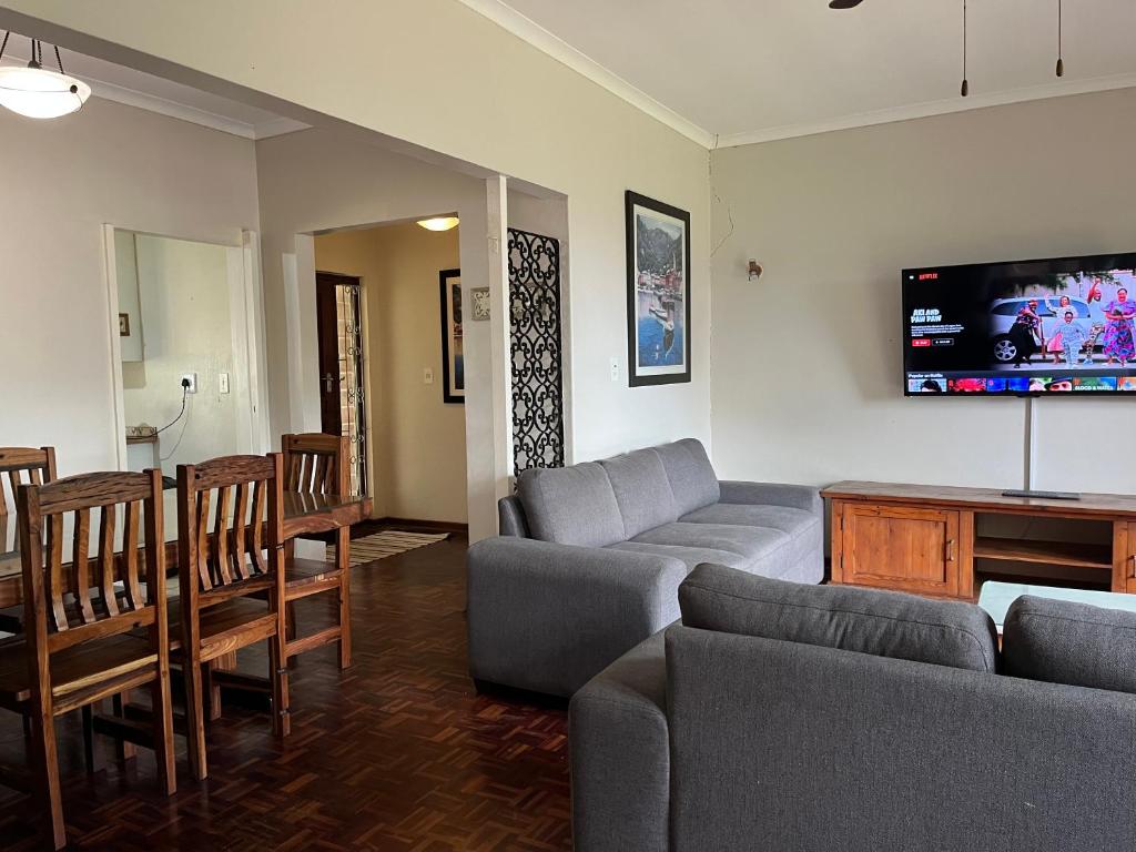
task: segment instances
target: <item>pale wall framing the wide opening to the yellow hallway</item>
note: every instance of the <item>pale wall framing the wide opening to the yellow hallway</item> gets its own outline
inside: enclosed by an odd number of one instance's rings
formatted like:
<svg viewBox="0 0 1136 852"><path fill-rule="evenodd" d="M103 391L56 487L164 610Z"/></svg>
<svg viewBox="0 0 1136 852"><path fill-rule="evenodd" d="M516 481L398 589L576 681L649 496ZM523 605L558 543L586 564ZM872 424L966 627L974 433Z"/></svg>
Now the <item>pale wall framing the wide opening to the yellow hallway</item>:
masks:
<svg viewBox="0 0 1136 852"><path fill-rule="evenodd" d="M488 284L486 185L476 177L324 130L258 142L257 169L273 428L276 433L318 431L315 277L295 281L285 275L290 265L302 266L296 253L303 256L310 249L310 239L296 235L457 212L461 218L461 284L468 300L470 287ZM307 262L314 273L314 258ZM290 289L293 310L287 307ZM466 441L468 446L482 448L469 454L466 466L474 538L492 535L496 525L487 326L473 324L465 337Z"/></svg>

